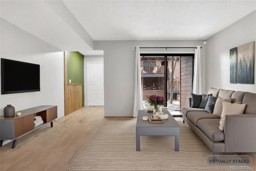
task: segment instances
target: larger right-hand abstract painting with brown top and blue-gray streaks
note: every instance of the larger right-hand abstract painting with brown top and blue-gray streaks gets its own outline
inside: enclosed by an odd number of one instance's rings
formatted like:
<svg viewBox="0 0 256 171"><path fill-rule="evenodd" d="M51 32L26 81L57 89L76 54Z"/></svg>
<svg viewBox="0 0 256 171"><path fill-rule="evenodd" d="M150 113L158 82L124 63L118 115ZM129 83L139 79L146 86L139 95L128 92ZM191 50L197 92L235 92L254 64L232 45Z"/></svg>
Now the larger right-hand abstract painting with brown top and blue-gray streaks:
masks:
<svg viewBox="0 0 256 171"><path fill-rule="evenodd" d="M255 41L250 42L248 44L244 44L242 46L238 46L237 53L237 83L254 84Z"/></svg>

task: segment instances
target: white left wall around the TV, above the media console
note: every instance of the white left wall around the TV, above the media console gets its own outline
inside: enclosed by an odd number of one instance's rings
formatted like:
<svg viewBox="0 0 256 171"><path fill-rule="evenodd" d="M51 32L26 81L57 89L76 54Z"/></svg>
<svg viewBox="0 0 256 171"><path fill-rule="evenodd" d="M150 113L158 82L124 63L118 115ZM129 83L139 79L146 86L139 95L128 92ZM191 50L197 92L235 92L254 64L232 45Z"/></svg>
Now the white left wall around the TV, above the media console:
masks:
<svg viewBox="0 0 256 171"><path fill-rule="evenodd" d="M57 105L64 116L64 52L1 18L1 58L40 65L40 91L0 95L0 115L7 104L16 111Z"/></svg>

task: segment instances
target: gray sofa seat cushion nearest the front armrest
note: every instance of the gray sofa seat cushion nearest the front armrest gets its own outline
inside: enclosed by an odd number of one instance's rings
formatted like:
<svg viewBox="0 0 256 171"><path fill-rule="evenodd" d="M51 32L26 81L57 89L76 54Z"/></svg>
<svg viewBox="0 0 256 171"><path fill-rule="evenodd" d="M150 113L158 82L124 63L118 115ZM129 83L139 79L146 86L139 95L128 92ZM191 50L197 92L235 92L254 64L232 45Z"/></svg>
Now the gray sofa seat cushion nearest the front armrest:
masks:
<svg viewBox="0 0 256 171"><path fill-rule="evenodd" d="M197 126L214 142L224 141L224 133L219 129L220 119L201 119Z"/></svg>

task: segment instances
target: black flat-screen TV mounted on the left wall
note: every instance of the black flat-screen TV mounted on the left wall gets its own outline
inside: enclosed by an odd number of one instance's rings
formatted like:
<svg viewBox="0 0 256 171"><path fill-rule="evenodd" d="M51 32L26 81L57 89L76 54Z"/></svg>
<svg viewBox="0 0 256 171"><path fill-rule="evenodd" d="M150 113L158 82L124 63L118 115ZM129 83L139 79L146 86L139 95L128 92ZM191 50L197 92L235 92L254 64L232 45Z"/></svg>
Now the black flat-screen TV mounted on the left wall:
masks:
<svg viewBox="0 0 256 171"><path fill-rule="evenodd" d="M40 65L1 58L1 94L40 91Z"/></svg>

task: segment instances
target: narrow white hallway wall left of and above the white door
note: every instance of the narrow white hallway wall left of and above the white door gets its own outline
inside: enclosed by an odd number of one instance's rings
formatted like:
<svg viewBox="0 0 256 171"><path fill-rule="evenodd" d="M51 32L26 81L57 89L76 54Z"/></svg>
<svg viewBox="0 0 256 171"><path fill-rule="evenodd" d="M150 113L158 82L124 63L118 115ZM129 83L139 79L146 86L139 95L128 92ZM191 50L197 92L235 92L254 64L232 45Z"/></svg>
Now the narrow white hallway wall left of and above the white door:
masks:
<svg viewBox="0 0 256 171"><path fill-rule="evenodd" d="M104 63L103 56L84 56L84 106L88 106L88 63Z"/></svg>

